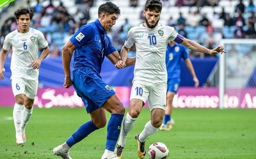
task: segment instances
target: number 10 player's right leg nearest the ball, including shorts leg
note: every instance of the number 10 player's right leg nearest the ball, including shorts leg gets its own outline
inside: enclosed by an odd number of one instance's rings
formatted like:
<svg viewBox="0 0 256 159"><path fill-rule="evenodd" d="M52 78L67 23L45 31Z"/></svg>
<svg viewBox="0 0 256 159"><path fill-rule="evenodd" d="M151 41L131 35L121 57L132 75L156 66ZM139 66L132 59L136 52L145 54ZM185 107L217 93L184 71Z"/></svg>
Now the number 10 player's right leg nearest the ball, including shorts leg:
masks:
<svg viewBox="0 0 256 159"><path fill-rule="evenodd" d="M138 142L137 153L140 158L145 157L146 138L155 134L162 124L166 108L166 90L167 84L156 83L149 94L148 104L151 112L151 120L147 122L142 132L135 136L135 139Z"/></svg>

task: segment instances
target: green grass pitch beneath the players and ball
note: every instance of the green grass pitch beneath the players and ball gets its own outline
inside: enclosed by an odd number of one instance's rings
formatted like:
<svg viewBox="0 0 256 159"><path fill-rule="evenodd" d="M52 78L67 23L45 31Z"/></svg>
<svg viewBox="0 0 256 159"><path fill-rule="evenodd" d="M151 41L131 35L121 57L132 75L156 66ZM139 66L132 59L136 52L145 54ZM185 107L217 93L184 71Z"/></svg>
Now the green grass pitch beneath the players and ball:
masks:
<svg viewBox="0 0 256 159"><path fill-rule="evenodd" d="M21 146L15 145L12 111L12 107L0 108L1 159L60 159L52 155L52 149L90 119L84 108L34 108L26 128L27 142ZM147 148L154 142L163 142L169 148L169 159L256 159L255 109L175 109L173 118L176 122L173 129L158 130L149 136ZM134 135L149 120L149 109L142 109L127 137L123 159L139 159ZM100 159L105 150L106 132L106 127L96 130L74 145L70 156Z"/></svg>

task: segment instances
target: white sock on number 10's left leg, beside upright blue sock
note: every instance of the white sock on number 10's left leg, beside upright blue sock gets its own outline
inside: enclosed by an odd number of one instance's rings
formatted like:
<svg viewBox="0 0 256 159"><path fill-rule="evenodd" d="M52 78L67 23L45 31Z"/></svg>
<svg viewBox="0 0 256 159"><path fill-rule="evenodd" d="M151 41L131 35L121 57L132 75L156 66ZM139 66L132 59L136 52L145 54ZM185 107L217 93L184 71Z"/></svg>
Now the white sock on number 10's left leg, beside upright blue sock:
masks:
<svg viewBox="0 0 256 159"><path fill-rule="evenodd" d="M118 145L125 147L126 137L134 126L134 122L137 118L131 118L129 113L126 114L125 119L123 120L123 127L121 129L120 137L118 140Z"/></svg>

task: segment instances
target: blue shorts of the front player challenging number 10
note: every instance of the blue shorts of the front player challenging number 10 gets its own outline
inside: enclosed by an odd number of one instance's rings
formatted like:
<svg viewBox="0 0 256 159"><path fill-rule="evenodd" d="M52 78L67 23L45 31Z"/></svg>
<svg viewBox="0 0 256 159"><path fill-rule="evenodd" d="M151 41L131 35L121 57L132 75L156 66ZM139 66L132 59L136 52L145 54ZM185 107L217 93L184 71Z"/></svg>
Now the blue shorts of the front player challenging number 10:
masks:
<svg viewBox="0 0 256 159"><path fill-rule="evenodd" d="M88 68L73 71L73 86L77 95L82 98L87 113L99 109L115 94L97 73Z"/></svg>

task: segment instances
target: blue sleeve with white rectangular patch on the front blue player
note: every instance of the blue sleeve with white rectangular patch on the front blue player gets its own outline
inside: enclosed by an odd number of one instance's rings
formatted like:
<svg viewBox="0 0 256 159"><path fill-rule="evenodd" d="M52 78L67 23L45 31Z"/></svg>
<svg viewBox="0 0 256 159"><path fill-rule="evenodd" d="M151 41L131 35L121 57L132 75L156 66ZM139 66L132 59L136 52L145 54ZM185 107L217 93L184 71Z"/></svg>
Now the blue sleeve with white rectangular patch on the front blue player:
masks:
<svg viewBox="0 0 256 159"><path fill-rule="evenodd" d="M92 35L95 33L92 26L83 25L76 33L70 38L76 48L79 48L86 44L89 40L93 39Z"/></svg>

